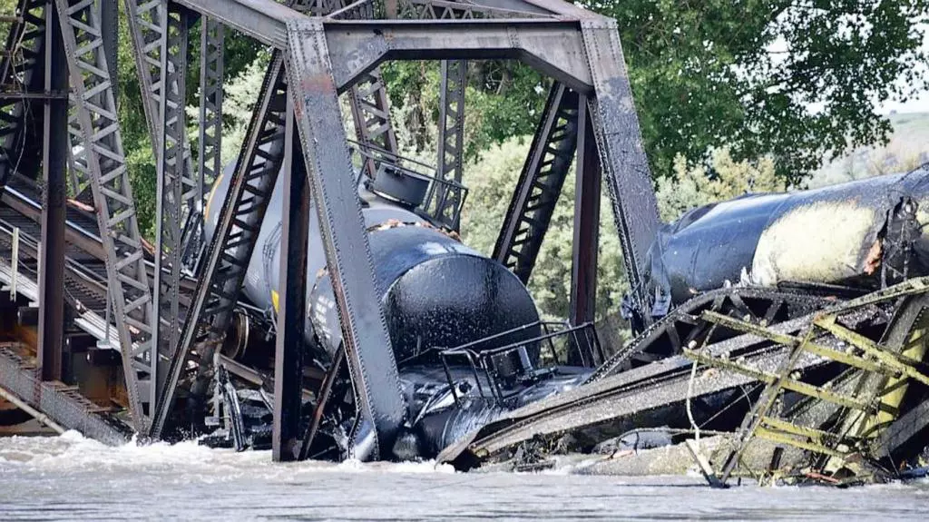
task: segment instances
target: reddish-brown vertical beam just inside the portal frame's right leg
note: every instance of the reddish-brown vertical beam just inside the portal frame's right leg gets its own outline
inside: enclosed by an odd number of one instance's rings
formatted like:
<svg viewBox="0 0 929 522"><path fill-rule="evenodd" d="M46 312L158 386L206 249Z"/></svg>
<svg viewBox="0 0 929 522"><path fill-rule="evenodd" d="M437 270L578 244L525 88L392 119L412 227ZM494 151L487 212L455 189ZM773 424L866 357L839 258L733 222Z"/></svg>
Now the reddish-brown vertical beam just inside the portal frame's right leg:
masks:
<svg viewBox="0 0 929 522"><path fill-rule="evenodd" d="M593 322L596 255L600 230L600 158L587 97L578 103L577 177L574 189L574 241L571 249L569 322ZM574 352L571 352L574 354ZM570 359L570 358L569 358Z"/></svg>

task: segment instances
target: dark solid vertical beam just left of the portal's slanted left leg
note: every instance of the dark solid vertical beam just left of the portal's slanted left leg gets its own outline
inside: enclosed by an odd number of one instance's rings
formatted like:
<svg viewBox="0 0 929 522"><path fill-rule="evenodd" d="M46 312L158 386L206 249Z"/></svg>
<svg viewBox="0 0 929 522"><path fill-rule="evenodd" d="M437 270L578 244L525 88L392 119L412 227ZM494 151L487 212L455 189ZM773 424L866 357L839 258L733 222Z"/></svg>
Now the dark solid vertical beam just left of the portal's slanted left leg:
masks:
<svg viewBox="0 0 929 522"><path fill-rule="evenodd" d="M300 457L300 409L303 389L304 327L307 317L307 238L309 183L303 151L294 129L294 97L287 98L284 137L283 215L281 224L281 309L274 357L274 423L271 456L275 461Z"/></svg>

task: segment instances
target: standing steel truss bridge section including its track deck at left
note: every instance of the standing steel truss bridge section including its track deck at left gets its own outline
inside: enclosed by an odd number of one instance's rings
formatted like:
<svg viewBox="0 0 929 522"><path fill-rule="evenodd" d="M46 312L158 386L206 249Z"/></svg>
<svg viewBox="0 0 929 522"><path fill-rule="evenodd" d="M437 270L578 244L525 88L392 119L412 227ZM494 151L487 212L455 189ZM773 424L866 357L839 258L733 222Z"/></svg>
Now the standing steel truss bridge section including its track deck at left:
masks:
<svg viewBox="0 0 929 522"><path fill-rule="evenodd" d="M521 60L551 77L493 257L528 281L576 157L569 322L593 320L604 180L633 301L645 306L640 280L659 219L614 20L559 0L125 0L123 8L157 158L154 245L138 230L116 116L116 1L22 0L3 19L9 34L0 62L0 281L20 315L38 317L34 353L28 342L0 349L0 388L54 423L102 440L131 431L159 438L180 388L203 393L281 172L288 211L274 458L296 458L302 437L299 346L311 198L356 400L375 429L374 456L377 441L389 444L403 422L403 398L393 391L397 364L374 294L339 105L347 94L360 147L383 152L367 156L363 168L394 162L399 151L378 69L385 60L441 60L434 174L454 183L433 184L426 209L450 229L458 227L455 209L464 197L455 188L468 60ZM199 35L192 33L198 20ZM273 54L216 233L205 241L204 183L221 166L224 39L239 35ZM191 64L198 36L201 60ZM184 95L188 71L198 65L199 139L192 151ZM124 389L113 402L124 411L102 415L88 399L93 386L64 384L73 378L74 353L110 368L106 375ZM227 362L230 372L260 379ZM195 375L183 378L191 368Z"/></svg>

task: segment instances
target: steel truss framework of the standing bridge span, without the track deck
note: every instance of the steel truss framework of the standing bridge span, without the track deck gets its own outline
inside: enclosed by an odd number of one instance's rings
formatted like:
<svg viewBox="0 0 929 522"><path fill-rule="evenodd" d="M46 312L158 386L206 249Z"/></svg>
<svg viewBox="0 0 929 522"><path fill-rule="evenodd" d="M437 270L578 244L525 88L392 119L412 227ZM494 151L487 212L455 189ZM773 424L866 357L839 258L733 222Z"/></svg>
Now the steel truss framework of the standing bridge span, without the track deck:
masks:
<svg viewBox="0 0 929 522"><path fill-rule="evenodd" d="M7 48L21 48L23 59L20 62L7 56L0 63L0 79L5 85L14 77L20 85L30 84L30 89L38 85L40 78L33 78L36 74L31 69L41 60L39 48L44 38L34 32L41 33L36 28L45 14L37 18L37 13L45 13L38 9L47 11L49 1L21 3L25 13L21 27L14 27ZM640 288L639 268L658 224L657 205L622 49L611 20L556 0L291 3L300 10L272 0L125 0L159 166L152 293L116 121L113 64L104 52L102 0L54 1L61 13L59 25L71 74L73 109L68 130L76 177L72 185L78 190L90 187L93 195L129 409L140 433L163 435L182 377L193 377L191 397L202 398L212 372L213 352L229 326L271 190L286 162L294 166L289 173L298 177L305 165L306 186L289 178L288 193L293 202L302 202L307 193L313 195L360 416L376 434L370 453L360 456L386 456L403 422L405 405L375 294L372 258L338 104L339 94L347 93L363 146L396 153L386 90L377 71L386 59L444 60L438 177L447 181L460 181L462 176L465 59L520 59L554 77L543 123L495 255L514 268L523 281L528 280L577 150L580 199L575 223L582 232L575 237L572 279L578 291L572 294L572 318L580 321L592 314L597 242L592 230L597 222L601 173L612 200L632 287ZM202 20L203 52L200 149L194 169L185 138L184 106L189 32L196 17ZM202 276L189 309L184 310L179 301L180 270L190 259L185 254L190 251L185 250L186 241L193 241L184 234L184 226L189 223L190 230L190 219L202 219L203 183L212 180L220 168L223 38L227 28L276 50L215 236L203 252ZM19 42L19 47L13 42ZM294 88L288 90L288 85ZM44 92L43 96L54 97L55 93ZM27 125L28 113L23 103L28 96L7 97L4 102L9 99L13 101L0 114L4 148L0 152L6 152L0 153L0 169L5 168L7 175L10 152L21 148L21 129ZM296 144L299 149L294 148ZM372 167L367 168L373 175ZM435 215L451 219L447 210L460 204L462 194L433 197ZM291 206L288 235L299 236L307 223L309 205ZM446 225L457 228L458 224ZM193 227L199 228L199 223ZM294 258L301 257L300 250L305 256L305 245L288 244L294 247ZM199 245L193 250L199 250ZM190 262L187 265L190 267ZM279 317L279 332L291 339L300 337L294 321L302 320L305 314L302 293L306 274L301 277L297 265L294 262L285 267L288 278L282 284L289 296L283 299ZM643 296L639 302L645 303ZM281 360L294 360L299 366L298 355L284 350ZM191 360L201 364L196 375L185 375ZM281 394L287 393L294 381L299 381L295 373L287 381L290 384L282 384ZM279 415L299 407L285 398L280 404ZM293 423L293 418L288 422ZM276 426L280 438L276 443L284 438L292 443L294 430L293 424ZM288 452L294 453L294 448L285 448L282 454L275 451L281 459L291 458L286 456Z"/></svg>

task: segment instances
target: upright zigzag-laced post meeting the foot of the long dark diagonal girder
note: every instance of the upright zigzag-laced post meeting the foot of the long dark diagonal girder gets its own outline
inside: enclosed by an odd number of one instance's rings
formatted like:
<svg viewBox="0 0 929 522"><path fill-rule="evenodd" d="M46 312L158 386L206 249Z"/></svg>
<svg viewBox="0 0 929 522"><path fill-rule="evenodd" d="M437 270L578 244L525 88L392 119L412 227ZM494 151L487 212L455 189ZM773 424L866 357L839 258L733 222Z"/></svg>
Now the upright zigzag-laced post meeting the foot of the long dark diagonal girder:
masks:
<svg viewBox="0 0 929 522"><path fill-rule="evenodd" d="M156 140L161 145L158 158L157 209L155 211L155 273L152 309L158 328L152 333L156 346L158 364L152 370L154 386L150 389L150 402L156 403L164 389L164 378L160 373L168 371L173 357L180 324L180 268L181 233L184 227L183 210L190 200L191 190L196 187L186 161L187 119L185 118L187 93L187 54L190 29L190 11L181 7L168 7L165 27L166 38L162 40L161 79L164 85L157 114L161 122L157 129L161 136Z"/></svg>

